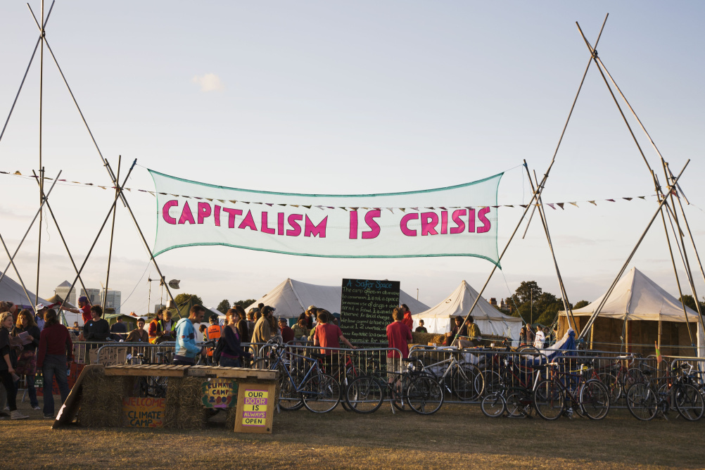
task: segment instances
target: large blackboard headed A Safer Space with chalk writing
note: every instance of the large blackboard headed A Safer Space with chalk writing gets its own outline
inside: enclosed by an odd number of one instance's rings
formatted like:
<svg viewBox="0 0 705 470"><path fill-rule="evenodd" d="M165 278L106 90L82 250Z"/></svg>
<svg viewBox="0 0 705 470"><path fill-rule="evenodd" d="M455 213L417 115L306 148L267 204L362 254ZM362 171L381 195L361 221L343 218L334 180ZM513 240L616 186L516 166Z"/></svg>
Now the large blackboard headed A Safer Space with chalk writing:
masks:
<svg viewBox="0 0 705 470"><path fill-rule="evenodd" d="M399 307L398 280L343 279L341 329L350 342L386 344L395 307Z"/></svg>

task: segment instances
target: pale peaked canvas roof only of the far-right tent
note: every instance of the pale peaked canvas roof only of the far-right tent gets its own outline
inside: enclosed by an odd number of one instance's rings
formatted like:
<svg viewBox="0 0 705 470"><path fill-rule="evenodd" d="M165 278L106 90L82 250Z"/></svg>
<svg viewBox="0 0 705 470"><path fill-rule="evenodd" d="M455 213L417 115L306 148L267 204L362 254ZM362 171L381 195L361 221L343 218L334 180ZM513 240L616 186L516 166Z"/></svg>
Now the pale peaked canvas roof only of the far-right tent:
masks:
<svg viewBox="0 0 705 470"><path fill-rule="evenodd" d="M589 316L593 314L603 297L605 294L586 307L573 310L573 315ZM697 311L687 307L686 310L687 321L698 321ZM565 316L565 311L560 311L558 314ZM615 285L599 316L627 320L686 321L683 306L678 299L663 290L663 287L654 283L653 280L644 276L644 273L637 268L632 268Z"/></svg>

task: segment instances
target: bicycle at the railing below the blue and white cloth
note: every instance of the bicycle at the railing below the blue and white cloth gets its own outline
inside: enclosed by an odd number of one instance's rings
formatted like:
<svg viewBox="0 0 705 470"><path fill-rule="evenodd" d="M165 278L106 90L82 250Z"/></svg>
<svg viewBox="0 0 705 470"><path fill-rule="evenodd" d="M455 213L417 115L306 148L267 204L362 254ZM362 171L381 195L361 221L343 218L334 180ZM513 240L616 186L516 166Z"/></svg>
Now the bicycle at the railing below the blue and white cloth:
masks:
<svg viewBox="0 0 705 470"><path fill-rule="evenodd" d="M574 408L581 416L599 420L610 409L609 390L597 378L586 379L593 360L580 361L577 371L560 371L557 362L550 362L551 378L540 381L534 390L534 407L541 418L554 420L564 413L572 417ZM568 361L570 365L570 361ZM577 372L577 373L575 373Z"/></svg>

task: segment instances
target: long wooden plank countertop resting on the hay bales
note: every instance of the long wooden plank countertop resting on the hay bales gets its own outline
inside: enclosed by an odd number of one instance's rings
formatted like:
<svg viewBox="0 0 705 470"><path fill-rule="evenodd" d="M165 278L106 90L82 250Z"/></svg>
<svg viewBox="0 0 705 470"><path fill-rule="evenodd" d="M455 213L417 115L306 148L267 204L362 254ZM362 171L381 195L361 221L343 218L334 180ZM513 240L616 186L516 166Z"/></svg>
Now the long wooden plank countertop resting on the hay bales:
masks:
<svg viewBox="0 0 705 470"><path fill-rule="evenodd" d="M147 364L144 366L109 366L104 368L106 376L166 376L166 377L222 377L257 378L276 380L278 371L243 369L219 366L176 366L173 364Z"/></svg>

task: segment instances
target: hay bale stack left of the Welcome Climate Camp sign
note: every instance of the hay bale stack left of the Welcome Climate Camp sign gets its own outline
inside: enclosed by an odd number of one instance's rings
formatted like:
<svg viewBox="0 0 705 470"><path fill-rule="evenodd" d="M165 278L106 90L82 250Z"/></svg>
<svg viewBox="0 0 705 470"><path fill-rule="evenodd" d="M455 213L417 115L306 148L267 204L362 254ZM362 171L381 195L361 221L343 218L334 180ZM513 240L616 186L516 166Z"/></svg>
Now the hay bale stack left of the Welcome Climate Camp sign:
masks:
<svg viewBox="0 0 705 470"><path fill-rule="evenodd" d="M128 390L126 377L106 378L102 370L87 373L78 410L80 426L122 426L123 396L128 395Z"/></svg>

